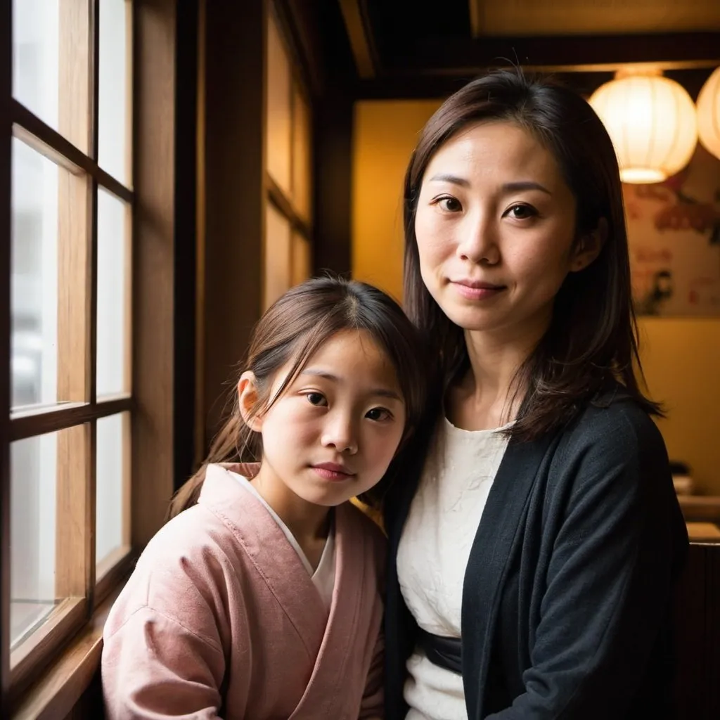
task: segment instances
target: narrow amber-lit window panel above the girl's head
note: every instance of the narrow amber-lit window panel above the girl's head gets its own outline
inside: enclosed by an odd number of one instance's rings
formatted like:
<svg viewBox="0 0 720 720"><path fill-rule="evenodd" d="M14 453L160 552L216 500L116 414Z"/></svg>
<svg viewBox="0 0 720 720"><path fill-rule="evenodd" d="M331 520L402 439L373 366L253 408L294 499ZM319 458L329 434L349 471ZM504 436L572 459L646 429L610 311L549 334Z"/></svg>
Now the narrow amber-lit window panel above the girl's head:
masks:
<svg viewBox="0 0 720 720"><path fill-rule="evenodd" d="M310 106L279 24L268 14L264 307L310 276Z"/></svg>

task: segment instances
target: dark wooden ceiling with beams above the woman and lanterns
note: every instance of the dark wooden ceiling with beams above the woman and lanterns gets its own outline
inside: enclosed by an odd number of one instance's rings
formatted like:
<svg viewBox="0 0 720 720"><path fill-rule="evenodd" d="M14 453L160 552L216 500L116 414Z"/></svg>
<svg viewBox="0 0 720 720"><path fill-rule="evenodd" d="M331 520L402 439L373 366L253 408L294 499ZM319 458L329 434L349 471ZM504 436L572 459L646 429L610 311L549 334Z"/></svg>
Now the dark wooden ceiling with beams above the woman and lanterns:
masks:
<svg viewBox="0 0 720 720"><path fill-rule="evenodd" d="M519 64L589 93L652 63L696 95L720 65L719 0L284 0L315 91L440 97ZM588 32L588 29L593 32ZM304 38L302 37L304 35Z"/></svg>

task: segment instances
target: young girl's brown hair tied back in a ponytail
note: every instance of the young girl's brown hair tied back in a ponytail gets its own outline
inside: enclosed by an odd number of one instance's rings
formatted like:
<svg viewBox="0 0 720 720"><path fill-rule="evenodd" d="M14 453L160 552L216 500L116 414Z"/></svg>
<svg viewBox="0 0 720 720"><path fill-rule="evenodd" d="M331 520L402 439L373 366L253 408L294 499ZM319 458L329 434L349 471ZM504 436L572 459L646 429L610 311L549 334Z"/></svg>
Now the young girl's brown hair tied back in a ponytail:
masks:
<svg viewBox="0 0 720 720"><path fill-rule="evenodd" d="M426 353L420 334L390 296L364 282L322 277L307 280L276 300L258 321L250 340L243 371L255 375L258 402L253 415L269 410L293 381L310 356L343 330L365 330L386 353L395 368L405 401L405 433L402 443L418 426L425 410L428 376ZM284 381L270 396L276 373L290 364ZM207 465L215 462L253 462L262 457L262 436L251 430L240 415L238 393L233 384L232 412L212 442L202 467L174 495L168 510L173 517L197 503ZM392 482L400 453L378 485L361 496L377 507Z"/></svg>

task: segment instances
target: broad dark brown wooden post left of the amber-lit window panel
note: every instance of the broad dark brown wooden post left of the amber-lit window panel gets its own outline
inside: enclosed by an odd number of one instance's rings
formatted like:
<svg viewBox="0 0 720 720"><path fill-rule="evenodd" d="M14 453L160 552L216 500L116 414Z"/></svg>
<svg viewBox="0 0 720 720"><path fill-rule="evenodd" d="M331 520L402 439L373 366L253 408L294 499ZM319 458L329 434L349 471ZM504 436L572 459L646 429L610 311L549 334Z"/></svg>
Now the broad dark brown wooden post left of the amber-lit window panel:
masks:
<svg viewBox="0 0 720 720"><path fill-rule="evenodd" d="M208 1L205 67L205 437L261 315L265 237L267 4ZM242 92L228 88L242 87ZM228 318L232 328L228 330Z"/></svg>

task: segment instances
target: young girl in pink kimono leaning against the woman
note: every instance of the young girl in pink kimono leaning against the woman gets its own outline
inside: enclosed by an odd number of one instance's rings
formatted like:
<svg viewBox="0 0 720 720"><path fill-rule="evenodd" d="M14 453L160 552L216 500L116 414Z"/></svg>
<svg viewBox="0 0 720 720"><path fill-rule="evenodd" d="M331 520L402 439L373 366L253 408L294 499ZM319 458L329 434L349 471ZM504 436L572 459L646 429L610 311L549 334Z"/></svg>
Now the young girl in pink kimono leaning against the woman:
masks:
<svg viewBox="0 0 720 720"><path fill-rule="evenodd" d="M421 356L359 282L310 280L265 313L232 417L108 618L111 720L382 716L384 538L348 500L395 476Z"/></svg>

